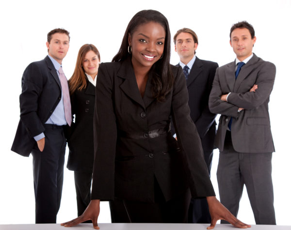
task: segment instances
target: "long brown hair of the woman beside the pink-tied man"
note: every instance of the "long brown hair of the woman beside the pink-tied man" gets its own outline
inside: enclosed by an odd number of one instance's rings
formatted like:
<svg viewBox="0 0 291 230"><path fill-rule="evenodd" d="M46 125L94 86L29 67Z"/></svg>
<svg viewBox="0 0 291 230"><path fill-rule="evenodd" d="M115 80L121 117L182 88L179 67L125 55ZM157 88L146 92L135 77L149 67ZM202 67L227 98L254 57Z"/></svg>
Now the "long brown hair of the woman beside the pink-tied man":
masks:
<svg viewBox="0 0 291 230"><path fill-rule="evenodd" d="M80 48L74 73L69 79L70 94L73 94L75 90L82 90L87 86L86 75L82 67L82 63L86 54L91 50L97 55L98 60L100 61L100 54L96 46L92 44L85 44Z"/></svg>

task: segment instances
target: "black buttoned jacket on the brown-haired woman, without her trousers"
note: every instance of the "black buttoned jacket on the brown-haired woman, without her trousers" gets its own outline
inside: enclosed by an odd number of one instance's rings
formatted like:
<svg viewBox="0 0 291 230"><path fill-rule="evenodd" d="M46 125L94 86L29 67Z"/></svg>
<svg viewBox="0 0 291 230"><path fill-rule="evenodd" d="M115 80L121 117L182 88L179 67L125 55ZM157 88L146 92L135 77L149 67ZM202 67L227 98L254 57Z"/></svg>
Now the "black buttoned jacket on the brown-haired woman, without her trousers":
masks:
<svg viewBox="0 0 291 230"><path fill-rule="evenodd" d="M93 115L95 86L89 82L85 89L71 95L72 115L75 122L68 138L69 156L67 168L74 171L92 171L94 160Z"/></svg>

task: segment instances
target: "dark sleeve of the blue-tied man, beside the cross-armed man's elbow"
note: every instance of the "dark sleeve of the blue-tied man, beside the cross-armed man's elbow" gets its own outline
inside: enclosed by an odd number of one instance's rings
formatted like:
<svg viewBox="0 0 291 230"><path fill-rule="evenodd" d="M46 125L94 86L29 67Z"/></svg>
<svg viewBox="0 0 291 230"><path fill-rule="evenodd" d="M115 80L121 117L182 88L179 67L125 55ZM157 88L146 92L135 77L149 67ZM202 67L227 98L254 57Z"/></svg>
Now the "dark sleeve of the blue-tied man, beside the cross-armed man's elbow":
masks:
<svg viewBox="0 0 291 230"><path fill-rule="evenodd" d="M208 88L206 89L207 102L209 101L209 95L212 88L212 82L213 82L215 70L217 69L217 67L218 67L218 64L216 62L213 63L209 72L208 82L207 82ZM200 114L199 118L195 122L200 138L203 138L207 134L209 128L215 122L215 117L216 117L216 114L210 112L209 105L207 103L207 105L205 105L205 107L203 108L202 113Z"/></svg>

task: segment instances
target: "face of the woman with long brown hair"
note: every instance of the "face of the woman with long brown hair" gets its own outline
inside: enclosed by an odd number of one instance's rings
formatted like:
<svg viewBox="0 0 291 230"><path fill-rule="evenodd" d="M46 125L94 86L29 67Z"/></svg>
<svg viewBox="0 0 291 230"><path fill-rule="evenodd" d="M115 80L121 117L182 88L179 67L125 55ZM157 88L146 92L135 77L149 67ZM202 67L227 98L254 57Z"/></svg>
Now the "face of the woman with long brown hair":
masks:
<svg viewBox="0 0 291 230"><path fill-rule="evenodd" d="M99 59L97 54L94 53L93 50L88 51L82 61L82 65L85 73L94 79L98 73L99 67Z"/></svg>

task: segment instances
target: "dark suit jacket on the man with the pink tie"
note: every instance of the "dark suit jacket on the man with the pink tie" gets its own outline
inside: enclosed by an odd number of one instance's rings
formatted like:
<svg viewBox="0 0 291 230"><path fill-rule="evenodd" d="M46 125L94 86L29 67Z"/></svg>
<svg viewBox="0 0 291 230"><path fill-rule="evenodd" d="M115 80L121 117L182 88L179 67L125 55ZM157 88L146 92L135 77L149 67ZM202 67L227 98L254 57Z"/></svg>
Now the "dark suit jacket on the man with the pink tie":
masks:
<svg viewBox="0 0 291 230"><path fill-rule="evenodd" d="M62 88L48 56L27 66L21 86L20 121L11 150L29 156L36 143L33 137L45 131L44 123L61 100Z"/></svg>

